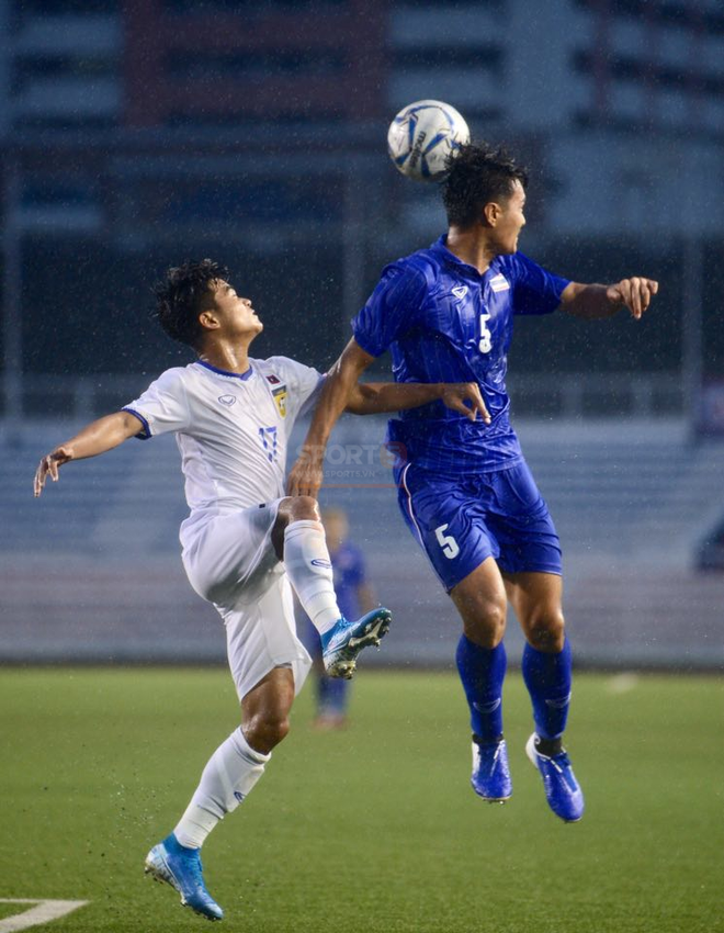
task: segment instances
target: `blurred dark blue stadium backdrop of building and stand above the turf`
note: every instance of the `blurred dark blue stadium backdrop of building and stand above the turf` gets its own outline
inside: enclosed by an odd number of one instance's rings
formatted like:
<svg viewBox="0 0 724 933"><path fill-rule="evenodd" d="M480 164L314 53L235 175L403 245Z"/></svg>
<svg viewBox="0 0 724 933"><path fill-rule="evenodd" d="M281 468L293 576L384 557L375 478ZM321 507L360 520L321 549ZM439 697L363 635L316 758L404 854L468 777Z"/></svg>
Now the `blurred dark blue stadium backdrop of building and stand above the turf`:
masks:
<svg viewBox="0 0 724 933"><path fill-rule="evenodd" d="M530 166L524 252L579 281L659 280L641 323L520 321L513 421L563 539L579 664L721 668L721 0L0 0L0 661L224 660L179 560L171 438L73 464L37 502L33 472L192 359L149 319L185 258L253 297L257 356L326 369L381 268L444 231L434 186L386 155L423 98ZM448 666L456 617L383 437L343 419L323 504L396 610L372 663Z"/></svg>

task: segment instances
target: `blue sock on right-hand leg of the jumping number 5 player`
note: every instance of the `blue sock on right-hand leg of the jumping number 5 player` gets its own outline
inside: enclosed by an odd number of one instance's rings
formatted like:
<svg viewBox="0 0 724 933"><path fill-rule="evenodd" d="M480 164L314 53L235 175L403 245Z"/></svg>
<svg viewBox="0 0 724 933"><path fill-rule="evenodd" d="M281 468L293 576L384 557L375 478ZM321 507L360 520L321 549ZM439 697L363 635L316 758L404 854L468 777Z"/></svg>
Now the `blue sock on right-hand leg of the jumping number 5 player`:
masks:
<svg viewBox="0 0 724 933"><path fill-rule="evenodd" d="M522 670L533 704L535 731L541 739L558 739L565 731L570 704L570 642L566 639L557 654L538 651L527 643Z"/></svg>

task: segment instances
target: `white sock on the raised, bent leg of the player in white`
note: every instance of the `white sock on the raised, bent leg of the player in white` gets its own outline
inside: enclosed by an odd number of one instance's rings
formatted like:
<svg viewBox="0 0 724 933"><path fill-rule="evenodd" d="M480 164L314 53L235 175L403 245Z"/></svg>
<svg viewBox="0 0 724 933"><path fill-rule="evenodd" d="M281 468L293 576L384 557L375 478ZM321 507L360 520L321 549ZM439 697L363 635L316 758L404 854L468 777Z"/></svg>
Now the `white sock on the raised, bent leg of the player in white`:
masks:
<svg viewBox="0 0 724 933"><path fill-rule="evenodd" d="M319 634L341 617L327 550L318 521L292 521L284 531L284 566L302 608Z"/></svg>

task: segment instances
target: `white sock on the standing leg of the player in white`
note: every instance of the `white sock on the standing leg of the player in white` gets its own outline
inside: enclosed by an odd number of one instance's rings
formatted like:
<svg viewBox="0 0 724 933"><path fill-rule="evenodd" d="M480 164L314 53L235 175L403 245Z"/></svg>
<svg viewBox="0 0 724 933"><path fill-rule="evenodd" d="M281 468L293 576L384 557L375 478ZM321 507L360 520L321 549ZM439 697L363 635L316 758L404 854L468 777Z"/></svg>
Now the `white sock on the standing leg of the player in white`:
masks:
<svg viewBox="0 0 724 933"><path fill-rule="evenodd" d="M191 802L173 830L186 848L201 848L226 813L236 810L264 773L271 757L256 752L239 727L208 760Z"/></svg>

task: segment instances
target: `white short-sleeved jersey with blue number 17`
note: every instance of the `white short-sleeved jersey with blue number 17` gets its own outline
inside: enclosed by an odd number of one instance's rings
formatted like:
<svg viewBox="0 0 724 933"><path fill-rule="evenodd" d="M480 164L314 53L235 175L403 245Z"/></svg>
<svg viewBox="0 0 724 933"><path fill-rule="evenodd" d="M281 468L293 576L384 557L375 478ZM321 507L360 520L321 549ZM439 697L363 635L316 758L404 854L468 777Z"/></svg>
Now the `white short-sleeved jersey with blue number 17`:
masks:
<svg viewBox="0 0 724 933"><path fill-rule="evenodd" d="M286 357L249 362L242 375L200 360L168 369L124 408L138 437L176 431L192 517L284 495L289 437L324 376Z"/></svg>

